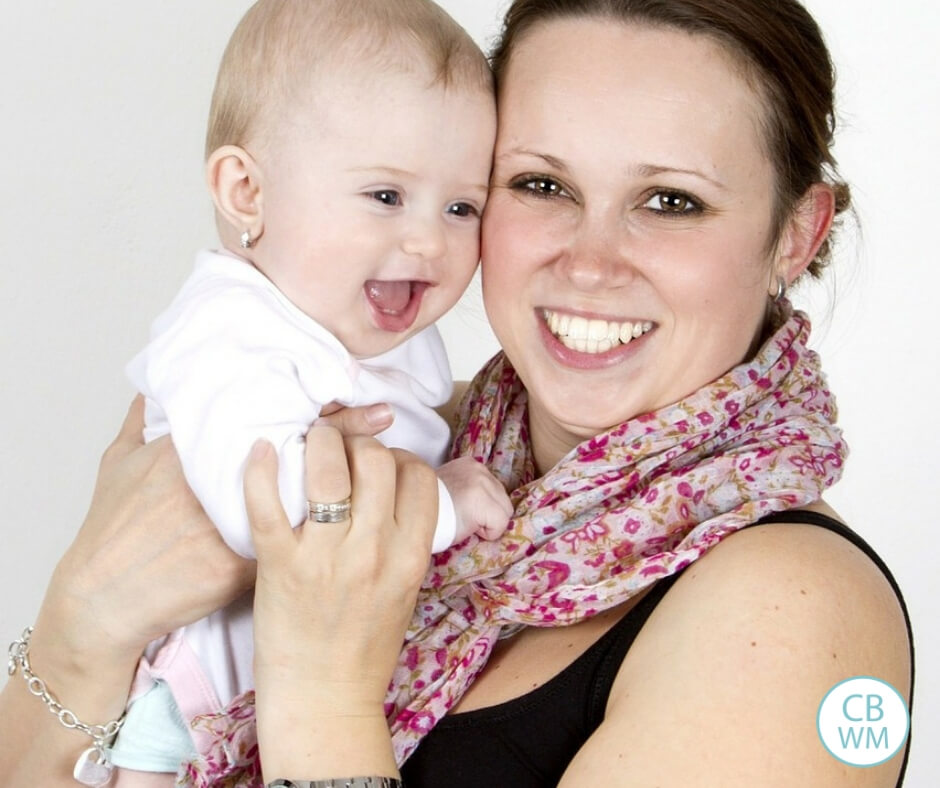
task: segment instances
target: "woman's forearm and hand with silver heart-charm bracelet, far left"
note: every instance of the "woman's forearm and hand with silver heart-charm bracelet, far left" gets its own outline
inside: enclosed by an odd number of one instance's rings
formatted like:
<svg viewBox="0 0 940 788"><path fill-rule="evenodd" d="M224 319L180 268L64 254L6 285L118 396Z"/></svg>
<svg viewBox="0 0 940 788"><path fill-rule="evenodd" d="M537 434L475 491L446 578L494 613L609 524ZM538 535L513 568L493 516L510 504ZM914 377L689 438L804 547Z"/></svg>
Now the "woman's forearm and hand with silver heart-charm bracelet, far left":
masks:
<svg viewBox="0 0 940 788"><path fill-rule="evenodd" d="M59 562L35 622L33 672L88 724L120 716L137 659L153 638L243 593L254 564L232 553L186 486L168 439L144 446L143 401L105 452L91 507ZM27 622L24 622L24 625ZM6 788L74 786L91 747L17 674L0 693Z"/></svg>

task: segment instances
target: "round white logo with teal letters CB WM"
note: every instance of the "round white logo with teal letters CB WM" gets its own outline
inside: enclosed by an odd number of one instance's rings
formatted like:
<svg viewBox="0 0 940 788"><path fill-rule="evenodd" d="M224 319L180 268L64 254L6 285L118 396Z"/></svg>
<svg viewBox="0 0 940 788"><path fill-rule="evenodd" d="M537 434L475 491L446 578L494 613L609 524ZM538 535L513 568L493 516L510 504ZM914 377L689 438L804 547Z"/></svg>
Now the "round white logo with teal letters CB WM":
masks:
<svg viewBox="0 0 940 788"><path fill-rule="evenodd" d="M871 676L840 681L822 699L816 729L834 758L877 766L895 756L910 728L907 703L888 682Z"/></svg>

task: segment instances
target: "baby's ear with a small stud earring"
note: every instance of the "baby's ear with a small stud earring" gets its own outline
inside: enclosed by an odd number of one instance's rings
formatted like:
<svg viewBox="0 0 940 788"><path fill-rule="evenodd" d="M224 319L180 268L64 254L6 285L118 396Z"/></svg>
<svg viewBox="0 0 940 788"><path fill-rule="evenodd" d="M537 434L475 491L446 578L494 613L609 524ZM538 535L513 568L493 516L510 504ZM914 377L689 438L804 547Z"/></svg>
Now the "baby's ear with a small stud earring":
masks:
<svg viewBox="0 0 940 788"><path fill-rule="evenodd" d="M206 181L219 215L241 236L251 241L264 232L261 171L244 148L223 145L206 162Z"/></svg>

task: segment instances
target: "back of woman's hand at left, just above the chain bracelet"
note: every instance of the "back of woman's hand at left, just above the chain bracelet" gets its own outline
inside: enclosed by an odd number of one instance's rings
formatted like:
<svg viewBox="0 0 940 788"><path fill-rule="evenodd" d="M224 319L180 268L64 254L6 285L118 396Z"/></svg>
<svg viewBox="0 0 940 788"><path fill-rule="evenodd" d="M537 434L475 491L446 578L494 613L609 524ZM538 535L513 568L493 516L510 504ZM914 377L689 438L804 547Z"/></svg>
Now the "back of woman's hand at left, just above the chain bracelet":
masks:
<svg viewBox="0 0 940 788"><path fill-rule="evenodd" d="M224 544L169 438L145 446L142 430L138 396L104 453L85 522L46 592L33 635L40 674L44 665L79 674L133 669L150 640L252 585L254 563Z"/></svg>

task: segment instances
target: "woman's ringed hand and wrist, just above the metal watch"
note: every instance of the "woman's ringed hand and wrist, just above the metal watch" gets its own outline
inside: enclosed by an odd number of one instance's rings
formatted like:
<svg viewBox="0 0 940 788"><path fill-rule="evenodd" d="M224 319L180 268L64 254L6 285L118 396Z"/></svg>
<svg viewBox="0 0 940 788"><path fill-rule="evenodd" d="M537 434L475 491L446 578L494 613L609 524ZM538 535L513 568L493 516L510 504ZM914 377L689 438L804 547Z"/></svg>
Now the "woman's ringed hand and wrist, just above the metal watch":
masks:
<svg viewBox="0 0 940 788"><path fill-rule="evenodd" d="M339 523L291 530L277 461L259 443L245 472L258 554L255 682L266 779L395 775L383 702L437 514L434 472L371 438L307 435L310 500L352 497Z"/></svg>

